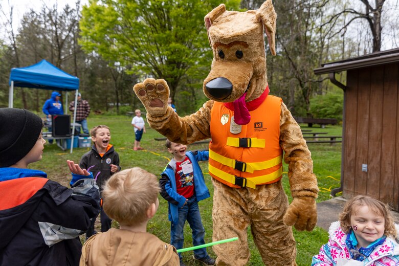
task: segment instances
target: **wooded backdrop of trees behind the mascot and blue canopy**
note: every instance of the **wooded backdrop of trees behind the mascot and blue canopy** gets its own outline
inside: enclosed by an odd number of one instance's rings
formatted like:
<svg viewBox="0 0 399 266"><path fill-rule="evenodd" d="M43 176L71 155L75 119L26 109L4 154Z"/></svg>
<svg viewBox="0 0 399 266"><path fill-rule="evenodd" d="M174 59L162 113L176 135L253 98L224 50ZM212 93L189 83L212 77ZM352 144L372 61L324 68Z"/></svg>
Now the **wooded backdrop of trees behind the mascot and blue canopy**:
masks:
<svg viewBox="0 0 399 266"><path fill-rule="evenodd" d="M89 0L58 9L42 2L12 25L13 6L0 2L0 107L8 106L11 68L46 59L80 79L95 113L125 114L141 103L132 85L165 78L180 115L207 100L202 83L212 61L204 16L220 0ZM224 1L228 10L263 1ZM342 119L343 93L313 69L321 63L399 47L397 0L275 0L276 50L267 47L271 93L296 116ZM345 81L345 73L338 79ZM17 88L14 107L41 114L50 91ZM63 95L64 97L64 95Z"/></svg>

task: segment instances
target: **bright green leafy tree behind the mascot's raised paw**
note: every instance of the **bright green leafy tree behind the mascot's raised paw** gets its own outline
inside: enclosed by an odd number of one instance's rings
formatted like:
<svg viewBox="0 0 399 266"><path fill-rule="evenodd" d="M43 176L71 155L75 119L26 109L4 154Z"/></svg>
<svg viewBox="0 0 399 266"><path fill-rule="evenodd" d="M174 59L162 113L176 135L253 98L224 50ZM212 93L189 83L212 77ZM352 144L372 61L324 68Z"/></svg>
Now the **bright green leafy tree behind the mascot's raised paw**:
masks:
<svg viewBox="0 0 399 266"><path fill-rule="evenodd" d="M219 0L89 0L82 10L80 44L130 73L164 78L174 99L185 77L206 77L212 52L204 16ZM237 9L230 0L227 8Z"/></svg>

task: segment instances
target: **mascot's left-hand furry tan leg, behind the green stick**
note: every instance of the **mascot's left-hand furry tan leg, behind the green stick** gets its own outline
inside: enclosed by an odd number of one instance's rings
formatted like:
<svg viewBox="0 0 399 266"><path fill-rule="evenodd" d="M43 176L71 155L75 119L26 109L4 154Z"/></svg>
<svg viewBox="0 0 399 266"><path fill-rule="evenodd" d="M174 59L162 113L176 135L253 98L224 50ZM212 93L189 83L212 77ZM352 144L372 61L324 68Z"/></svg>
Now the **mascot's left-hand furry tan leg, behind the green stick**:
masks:
<svg viewBox="0 0 399 266"><path fill-rule="evenodd" d="M245 197L239 192L246 189L230 188L213 180L213 241L238 237L238 240L213 246L217 255L216 265L246 265L250 252L247 228L250 225Z"/></svg>

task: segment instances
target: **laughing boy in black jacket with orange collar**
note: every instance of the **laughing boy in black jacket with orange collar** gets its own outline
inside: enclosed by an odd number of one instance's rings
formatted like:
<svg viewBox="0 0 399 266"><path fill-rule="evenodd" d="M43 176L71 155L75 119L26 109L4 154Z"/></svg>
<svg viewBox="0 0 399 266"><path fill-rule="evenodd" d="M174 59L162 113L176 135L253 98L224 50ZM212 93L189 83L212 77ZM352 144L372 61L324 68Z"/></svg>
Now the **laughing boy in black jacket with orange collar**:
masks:
<svg viewBox="0 0 399 266"><path fill-rule="evenodd" d="M105 125L95 126L90 130L92 136L93 146L92 149L83 154L80 159L79 166L87 171L93 172L93 175L97 181L97 185L100 189L111 175L121 170L119 166L119 155L114 150L114 146L109 144L111 134L109 127ZM101 220L101 232L108 231L111 228L112 219L110 219L101 208L100 213ZM94 223L96 218L92 220L92 226L86 231L86 238L95 234Z"/></svg>

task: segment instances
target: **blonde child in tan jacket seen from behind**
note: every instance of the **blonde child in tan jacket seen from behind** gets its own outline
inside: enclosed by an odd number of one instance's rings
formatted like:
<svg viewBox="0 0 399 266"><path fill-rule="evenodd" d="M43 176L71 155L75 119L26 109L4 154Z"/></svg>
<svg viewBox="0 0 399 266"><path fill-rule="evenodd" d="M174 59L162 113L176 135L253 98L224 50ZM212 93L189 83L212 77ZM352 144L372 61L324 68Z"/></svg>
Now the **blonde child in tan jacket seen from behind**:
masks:
<svg viewBox="0 0 399 266"><path fill-rule="evenodd" d="M120 171L102 191L106 214L120 229L90 237L83 245L80 265L179 265L176 249L147 233L157 212L157 177L139 167Z"/></svg>

